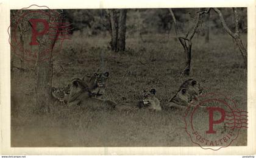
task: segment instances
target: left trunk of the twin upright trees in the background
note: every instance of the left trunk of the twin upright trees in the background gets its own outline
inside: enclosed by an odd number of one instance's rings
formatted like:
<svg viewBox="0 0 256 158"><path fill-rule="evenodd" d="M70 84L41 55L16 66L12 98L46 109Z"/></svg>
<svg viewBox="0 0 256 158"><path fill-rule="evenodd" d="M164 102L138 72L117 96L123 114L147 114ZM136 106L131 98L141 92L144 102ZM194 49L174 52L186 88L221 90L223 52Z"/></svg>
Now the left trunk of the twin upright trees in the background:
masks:
<svg viewBox="0 0 256 158"><path fill-rule="evenodd" d="M113 51L117 52L117 44L118 44L118 16L117 16L117 10L115 9L110 9L109 10L110 14L110 22L111 22L111 30L112 30L112 35L111 35L111 48Z"/></svg>

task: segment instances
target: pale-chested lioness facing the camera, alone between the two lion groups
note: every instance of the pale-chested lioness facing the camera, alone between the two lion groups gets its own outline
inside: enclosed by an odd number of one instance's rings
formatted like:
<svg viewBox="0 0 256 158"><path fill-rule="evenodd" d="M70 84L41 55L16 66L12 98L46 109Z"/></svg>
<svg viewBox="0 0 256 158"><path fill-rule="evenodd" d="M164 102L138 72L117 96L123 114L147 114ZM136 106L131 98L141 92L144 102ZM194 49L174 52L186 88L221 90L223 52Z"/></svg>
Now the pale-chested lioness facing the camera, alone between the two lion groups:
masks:
<svg viewBox="0 0 256 158"><path fill-rule="evenodd" d="M149 108L155 111L162 110L160 101L155 97L155 92L155 89L151 89L150 91L143 90L143 101L139 102L139 108Z"/></svg>

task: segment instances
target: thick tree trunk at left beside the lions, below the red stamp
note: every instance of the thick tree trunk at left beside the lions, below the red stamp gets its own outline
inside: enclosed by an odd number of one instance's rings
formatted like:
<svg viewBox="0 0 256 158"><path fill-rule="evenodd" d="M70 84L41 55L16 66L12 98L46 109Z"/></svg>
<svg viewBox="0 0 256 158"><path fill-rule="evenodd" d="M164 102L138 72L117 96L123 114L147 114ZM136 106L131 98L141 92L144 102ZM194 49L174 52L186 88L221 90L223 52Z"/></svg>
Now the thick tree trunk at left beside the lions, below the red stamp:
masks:
<svg viewBox="0 0 256 158"><path fill-rule="evenodd" d="M47 11L46 11L47 12ZM48 19L49 23L54 24L62 24L62 17L55 18L55 19ZM35 64L35 74L36 74L36 81L35 81L35 103L38 107L39 112L49 112L50 106L52 104L52 95L51 95L51 88L52 88L52 49L54 47L56 38L59 34L54 28L50 28L49 32L56 32L55 40L49 40L49 33L44 35L41 40L39 40L39 49L37 53L37 61ZM49 51L49 60L40 61L40 59L44 55L44 51L46 49L51 48Z"/></svg>

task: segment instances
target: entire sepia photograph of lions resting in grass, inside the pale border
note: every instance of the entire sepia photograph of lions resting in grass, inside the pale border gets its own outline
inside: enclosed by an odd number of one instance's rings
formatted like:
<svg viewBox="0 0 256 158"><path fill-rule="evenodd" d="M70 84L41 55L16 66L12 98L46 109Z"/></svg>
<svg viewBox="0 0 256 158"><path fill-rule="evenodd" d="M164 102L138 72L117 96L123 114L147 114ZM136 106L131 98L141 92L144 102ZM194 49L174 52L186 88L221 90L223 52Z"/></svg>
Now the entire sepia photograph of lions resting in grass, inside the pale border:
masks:
<svg viewBox="0 0 256 158"><path fill-rule="evenodd" d="M10 10L11 147L247 146L246 7L34 7Z"/></svg>

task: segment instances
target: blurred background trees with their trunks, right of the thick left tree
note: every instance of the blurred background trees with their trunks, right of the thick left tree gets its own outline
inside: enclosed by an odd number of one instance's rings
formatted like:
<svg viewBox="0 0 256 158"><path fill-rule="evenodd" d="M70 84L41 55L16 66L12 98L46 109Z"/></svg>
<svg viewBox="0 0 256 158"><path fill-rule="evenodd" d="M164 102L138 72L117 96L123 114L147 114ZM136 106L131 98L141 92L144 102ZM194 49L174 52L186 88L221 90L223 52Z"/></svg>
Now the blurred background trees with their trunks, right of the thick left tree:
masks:
<svg viewBox="0 0 256 158"><path fill-rule="evenodd" d="M125 41L129 36L137 36L143 42L146 41L143 35L146 34L165 34L177 38L177 36L181 36L177 34L178 28L178 32L183 36L183 40L179 38L179 41L182 41L186 52L184 57L186 68L183 70L183 74L189 75L191 40L194 35L204 36L205 43L211 43L211 35L228 33L235 41L234 45L237 45L241 52L244 67L247 65L247 50L240 39L240 33L247 33L246 8L235 9L236 12L232 8L218 10L221 16L216 13L215 9L211 9L210 12L204 13L198 18L198 9L172 9L176 22L174 22L169 9L66 10L66 15L69 22L73 22L74 30L80 31L81 35L110 35L108 47L115 52L125 50ZM225 27L223 20L226 24ZM227 28L230 32L227 32Z"/></svg>

